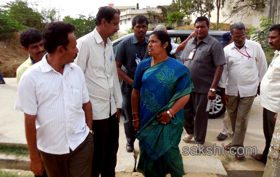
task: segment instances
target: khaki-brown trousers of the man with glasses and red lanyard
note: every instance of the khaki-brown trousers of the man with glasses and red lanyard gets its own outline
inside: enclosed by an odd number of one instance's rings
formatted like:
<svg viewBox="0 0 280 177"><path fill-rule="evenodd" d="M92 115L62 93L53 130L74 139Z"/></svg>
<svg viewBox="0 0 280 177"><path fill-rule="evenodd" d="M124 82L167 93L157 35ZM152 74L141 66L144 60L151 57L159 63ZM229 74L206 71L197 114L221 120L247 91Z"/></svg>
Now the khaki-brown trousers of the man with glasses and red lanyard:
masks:
<svg viewBox="0 0 280 177"><path fill-rule="evenodd" d="M228 96L229 104L226 106L225 116L230 119L229 137L232 138L231 146L244 147L244 139L247 131L250 111L255 95L248 97Z"/></svg>

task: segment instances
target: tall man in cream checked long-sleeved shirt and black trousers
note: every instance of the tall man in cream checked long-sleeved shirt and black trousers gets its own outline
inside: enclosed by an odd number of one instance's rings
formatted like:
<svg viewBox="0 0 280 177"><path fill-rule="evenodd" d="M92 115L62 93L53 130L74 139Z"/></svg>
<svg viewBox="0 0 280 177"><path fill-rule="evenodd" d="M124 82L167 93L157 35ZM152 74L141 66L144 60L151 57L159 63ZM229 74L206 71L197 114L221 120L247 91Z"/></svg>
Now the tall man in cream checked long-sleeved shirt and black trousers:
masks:
<svg viewBox="0 0 280 177"><path fill-rule="evenodd" d="M100 7L93 32L77 40L75 63L85 74L93 112L92 176L115 176L117 163L121 88L113 46L108 38L119 30L120 11Z"/></svg>

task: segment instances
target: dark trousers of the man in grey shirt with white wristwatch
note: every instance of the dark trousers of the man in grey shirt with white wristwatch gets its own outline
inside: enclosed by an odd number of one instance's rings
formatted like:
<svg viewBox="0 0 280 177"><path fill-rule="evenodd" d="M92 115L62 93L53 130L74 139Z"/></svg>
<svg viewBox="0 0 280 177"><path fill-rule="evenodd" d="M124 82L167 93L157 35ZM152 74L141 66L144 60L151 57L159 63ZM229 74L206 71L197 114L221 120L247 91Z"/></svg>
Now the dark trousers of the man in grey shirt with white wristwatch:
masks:
<svg viewBox="0 0 280 177"><path fill-rule="evenodd" d="M184 106L184 128L187 134L194 134L196 144L204 144L209 111L206 112L207 94L192 92Z"/></svg>

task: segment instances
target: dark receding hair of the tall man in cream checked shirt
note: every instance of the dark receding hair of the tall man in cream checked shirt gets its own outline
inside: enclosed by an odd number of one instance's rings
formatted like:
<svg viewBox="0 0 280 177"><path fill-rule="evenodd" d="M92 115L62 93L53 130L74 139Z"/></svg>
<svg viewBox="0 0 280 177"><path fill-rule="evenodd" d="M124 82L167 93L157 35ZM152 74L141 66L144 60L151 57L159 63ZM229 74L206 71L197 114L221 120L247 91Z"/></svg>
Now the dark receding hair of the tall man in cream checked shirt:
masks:
<svg viewBox="0 0 280 177"><path fill-rule="evenodd" d="M102 19L105 19L107 23L111 23L111 20L114 19L115 14L120 15L121 12L119 9L114 9L110 6L99 7L96 18L94 19L95 25L101 25Z"/></svg>

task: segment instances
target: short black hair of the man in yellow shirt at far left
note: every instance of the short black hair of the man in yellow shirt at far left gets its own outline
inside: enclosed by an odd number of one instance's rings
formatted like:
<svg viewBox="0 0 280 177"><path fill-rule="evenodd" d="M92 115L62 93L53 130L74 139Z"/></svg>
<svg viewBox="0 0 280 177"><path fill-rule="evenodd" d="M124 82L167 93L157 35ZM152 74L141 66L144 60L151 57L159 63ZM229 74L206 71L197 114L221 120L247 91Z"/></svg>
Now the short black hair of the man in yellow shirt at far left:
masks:
<svg viewBox="0 0 280 177"><path fill-rule="evenodd" d="M43 40L42 32L35 28L23 30L19 35L20 44L27 49L29 44L34 44L41 40Z"/></svg>

